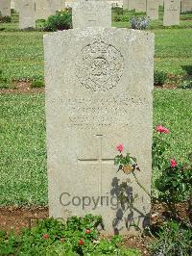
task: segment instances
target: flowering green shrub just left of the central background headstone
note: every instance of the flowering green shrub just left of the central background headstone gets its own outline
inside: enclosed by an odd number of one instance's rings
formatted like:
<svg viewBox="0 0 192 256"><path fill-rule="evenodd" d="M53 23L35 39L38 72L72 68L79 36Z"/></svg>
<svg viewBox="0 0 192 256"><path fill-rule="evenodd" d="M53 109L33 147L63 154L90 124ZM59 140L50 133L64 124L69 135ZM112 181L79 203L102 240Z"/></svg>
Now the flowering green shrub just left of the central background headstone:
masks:
<svg viewBox="0 0 192 256"><path fill-rule="evenodd" d="M72 12L71 9L64 9L57 12L56 15L48 17L44 24L44 31L67 30L72 28Z"/></svg>

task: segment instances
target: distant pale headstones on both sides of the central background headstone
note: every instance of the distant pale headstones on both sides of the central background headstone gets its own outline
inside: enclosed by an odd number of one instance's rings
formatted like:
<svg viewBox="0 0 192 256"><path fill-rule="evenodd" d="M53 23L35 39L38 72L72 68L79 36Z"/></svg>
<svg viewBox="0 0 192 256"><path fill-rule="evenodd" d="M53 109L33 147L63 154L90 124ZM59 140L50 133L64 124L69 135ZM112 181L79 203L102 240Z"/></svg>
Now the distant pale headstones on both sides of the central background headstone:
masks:
<svg viewBox="0 0 192 256"><path fill-rule="evenodd" d="M158 19L158 7L163 0L124 0L124 9L147 12L151 19ZM19 28L36 27L36 19L46 19L65 7L65 0L14 0L14 8L19 12ZM192 0L181 0L181 12L192 11ZM11 14L10 0L1 0L0 12ZM180 0L164 0L163 25L180 24Z"/></svg>

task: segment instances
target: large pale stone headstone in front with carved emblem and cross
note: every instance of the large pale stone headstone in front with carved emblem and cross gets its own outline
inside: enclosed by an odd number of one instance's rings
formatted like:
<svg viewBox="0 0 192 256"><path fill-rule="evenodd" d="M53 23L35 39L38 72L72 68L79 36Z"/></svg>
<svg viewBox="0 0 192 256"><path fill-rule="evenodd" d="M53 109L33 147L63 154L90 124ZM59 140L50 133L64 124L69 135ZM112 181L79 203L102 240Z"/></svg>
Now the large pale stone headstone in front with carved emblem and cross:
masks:
<svg viewBox="0 0 192 256"><path fill-rule="evenodd" d="M56 47L57 46L57 47ZM67 49L67 51L66 51ZM44 36L49 210L54 218L102 215L108 234L149 222L150 198L117 172L116 145L137 158L151 189L154 35L86 28ZM132 204L121 207L120 184ZM137 230L137 229L136 229Z"/></svg>

